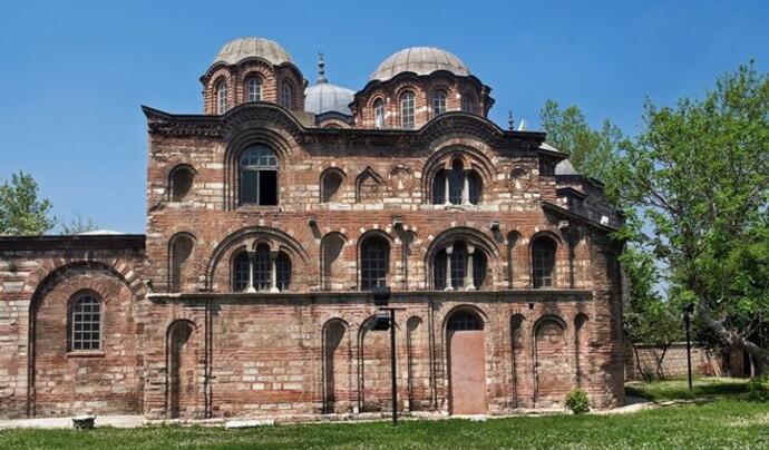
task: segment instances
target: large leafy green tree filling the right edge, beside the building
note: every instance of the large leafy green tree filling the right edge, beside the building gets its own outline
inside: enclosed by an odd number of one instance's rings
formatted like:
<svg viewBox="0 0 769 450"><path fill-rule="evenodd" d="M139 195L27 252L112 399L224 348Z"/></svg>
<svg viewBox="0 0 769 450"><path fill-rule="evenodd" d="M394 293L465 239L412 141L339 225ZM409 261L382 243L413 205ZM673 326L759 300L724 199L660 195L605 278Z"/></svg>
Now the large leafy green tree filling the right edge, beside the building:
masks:
<svg viewBox="0 0 769 450"><path fill-rule="evenodd" d="M648 100L622 147L609 188L646 224L625 232L702 326L769 364L755 339L769 316L769 77L751 61L702 99Z"/></svg>

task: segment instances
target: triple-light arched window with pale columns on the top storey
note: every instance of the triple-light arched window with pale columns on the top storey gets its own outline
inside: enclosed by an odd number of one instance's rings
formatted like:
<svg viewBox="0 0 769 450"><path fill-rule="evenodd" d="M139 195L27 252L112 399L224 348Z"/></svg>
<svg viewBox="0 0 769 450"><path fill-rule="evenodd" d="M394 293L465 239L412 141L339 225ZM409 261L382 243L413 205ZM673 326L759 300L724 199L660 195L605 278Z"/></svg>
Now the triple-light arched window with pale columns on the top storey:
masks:
<svg viewBox="0 0 769 450"><path fill-rule="evenodd" d="M466 170L461 159L451 163L451 169L440 169L432 178L434 205L478 205L484 182L474 170Z"/></svg>

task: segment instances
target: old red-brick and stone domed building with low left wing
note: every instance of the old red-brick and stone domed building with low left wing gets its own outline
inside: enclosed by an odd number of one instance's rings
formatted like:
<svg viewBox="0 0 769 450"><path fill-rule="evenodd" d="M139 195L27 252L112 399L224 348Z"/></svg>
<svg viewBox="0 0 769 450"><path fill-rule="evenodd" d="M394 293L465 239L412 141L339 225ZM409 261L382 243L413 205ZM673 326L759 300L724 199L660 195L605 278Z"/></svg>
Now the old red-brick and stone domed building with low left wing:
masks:
<svg viewBox="0 0 769 450"><path fill-rule="evenodd" d="M623 401L600 182L506 130L457 57L410 48L358 91L227 43L204 114L144 107L146 235L0 238L0 417L150 419Z"/></svg>

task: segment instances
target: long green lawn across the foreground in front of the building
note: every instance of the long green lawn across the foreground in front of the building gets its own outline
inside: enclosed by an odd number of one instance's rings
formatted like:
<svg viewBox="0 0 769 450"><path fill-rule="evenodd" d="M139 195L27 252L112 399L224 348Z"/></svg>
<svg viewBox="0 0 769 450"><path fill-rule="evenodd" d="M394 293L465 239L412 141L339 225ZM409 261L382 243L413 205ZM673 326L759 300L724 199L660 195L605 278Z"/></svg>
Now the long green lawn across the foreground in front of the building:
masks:
<svg viewBox="0 0 769 450"><path fill-rule="evenodd" d="M640 389L656 395L675 392L675 384L666 388L666 383ZM702 383L703 388L707 385L710 383ZM723 389L729 391L731 388ZM711 390L703 392L711 393ZM11 430L0 431L0 449L769 448L769 403L750 402L741 397L723 397L705 404L631 414L518 417L486 422L406 421L395 429L389 422L376 422L278 425L236 431L178 427Z"/></svg>

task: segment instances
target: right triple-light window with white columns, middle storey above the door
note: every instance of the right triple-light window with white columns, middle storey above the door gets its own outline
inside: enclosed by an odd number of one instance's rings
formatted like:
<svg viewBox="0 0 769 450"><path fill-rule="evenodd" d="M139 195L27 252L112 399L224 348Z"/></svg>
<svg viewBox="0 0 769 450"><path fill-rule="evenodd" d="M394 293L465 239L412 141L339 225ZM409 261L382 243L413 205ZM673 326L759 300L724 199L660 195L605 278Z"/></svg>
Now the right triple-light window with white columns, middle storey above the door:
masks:
<svg viewBox="0 0 769 450"><path fill-rule="evenodd" d="M432 281L436 290L479 288L486 281L486 254L457 241L434 256Z"/></svg>

